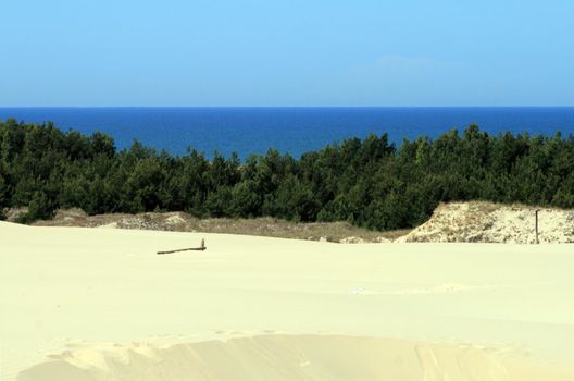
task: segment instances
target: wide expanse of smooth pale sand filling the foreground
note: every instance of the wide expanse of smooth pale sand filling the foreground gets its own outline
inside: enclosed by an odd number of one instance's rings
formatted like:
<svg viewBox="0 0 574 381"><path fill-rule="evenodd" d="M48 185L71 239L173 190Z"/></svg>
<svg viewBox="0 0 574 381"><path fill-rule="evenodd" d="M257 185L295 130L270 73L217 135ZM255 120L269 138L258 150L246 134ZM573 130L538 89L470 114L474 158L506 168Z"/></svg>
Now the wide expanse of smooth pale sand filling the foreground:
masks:
<svg viewBox="0 0 574 381"><path fill-rule="evenodd" d="M2 381L574 380L571 245L0 223L0 263Z"/></svg>

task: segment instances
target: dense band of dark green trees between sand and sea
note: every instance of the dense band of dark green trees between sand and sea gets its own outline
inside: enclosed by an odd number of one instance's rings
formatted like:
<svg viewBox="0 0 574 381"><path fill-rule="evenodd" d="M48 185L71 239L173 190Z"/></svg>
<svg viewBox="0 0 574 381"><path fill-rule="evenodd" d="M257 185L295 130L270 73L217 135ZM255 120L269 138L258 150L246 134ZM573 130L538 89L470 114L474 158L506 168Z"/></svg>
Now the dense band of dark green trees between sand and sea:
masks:
<svg viewBox="0 0 574 381"><path fill-rule="evenodd" d="M29 207L24 222L58 208L187 211L198 217L271 216L349 221L375 230L424 222L440 201L491 200L574 207L574 137L489 136L471 125L437 139L386 134L350 138L300 159L189 149L174 157L135 142L63 133L51 123L0 122L0 213Z"/></svg>

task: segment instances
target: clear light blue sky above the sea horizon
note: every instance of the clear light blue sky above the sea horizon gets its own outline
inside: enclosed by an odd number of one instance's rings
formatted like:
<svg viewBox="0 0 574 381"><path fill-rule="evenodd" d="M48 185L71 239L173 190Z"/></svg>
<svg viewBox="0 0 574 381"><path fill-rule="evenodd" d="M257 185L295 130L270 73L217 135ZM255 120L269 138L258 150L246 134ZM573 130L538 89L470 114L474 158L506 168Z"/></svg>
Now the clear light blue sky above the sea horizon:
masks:
<svg viewBox="0 0 574 381"><path fill-rule="evenodd" d="M573 106L572 0L12 0L0 106Z"/></svg>

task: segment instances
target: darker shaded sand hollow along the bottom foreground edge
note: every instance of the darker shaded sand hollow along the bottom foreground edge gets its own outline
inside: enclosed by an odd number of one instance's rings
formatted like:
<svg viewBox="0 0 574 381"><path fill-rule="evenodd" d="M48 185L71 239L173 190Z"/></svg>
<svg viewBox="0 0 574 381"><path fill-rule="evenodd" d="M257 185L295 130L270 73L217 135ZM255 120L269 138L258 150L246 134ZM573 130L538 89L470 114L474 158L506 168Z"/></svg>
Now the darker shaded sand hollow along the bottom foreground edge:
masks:
<svg viewBox="0 0 574 381"><path fill-rule="evenodd" d="M569 380L567 374L469 345L335 335L264 335L77 349L32 367L20 381Z"/></svg>

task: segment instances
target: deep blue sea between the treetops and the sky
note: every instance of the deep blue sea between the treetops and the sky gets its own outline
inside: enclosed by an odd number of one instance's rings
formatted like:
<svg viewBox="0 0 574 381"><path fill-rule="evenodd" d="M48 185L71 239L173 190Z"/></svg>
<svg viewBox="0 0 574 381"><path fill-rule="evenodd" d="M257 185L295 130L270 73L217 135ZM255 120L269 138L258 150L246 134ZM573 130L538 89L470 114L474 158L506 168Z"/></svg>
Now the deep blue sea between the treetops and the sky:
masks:
<svg viewBox="0 0 574 381"><path fill-rule="evenodd" d="M85 134L101 131L120 149L134 139L184 155L187 147L265 153L269 148L299 157L335 140L388 133L392 142L462 130L477 123L489 134L574 135L574 107L564 108L0 108L0 120L52 121Z"/></svg>

